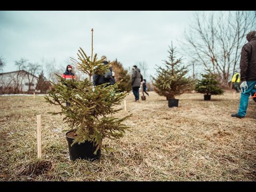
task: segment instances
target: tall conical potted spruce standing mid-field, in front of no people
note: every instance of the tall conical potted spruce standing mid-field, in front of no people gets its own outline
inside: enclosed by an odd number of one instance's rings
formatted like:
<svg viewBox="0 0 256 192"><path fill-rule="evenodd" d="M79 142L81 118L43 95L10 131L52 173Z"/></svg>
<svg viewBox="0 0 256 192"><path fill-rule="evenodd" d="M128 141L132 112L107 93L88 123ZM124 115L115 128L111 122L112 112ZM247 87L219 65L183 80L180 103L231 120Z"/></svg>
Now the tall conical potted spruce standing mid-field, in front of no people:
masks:
<svg viewBox="0 0 256 192"><path fill-rule="evenodd" d="M186 77L188 69L181 65L182 58L176 59L175 47L169 48L169 60L164 60L164 67L157 66L157 75L152 77L153 85L156 93L166 97L169 107L178 107L179 99L175 99L175 96L191 90L195 82L191 77Z"/></svg>

